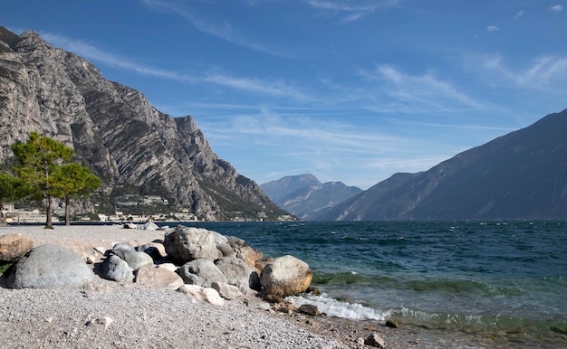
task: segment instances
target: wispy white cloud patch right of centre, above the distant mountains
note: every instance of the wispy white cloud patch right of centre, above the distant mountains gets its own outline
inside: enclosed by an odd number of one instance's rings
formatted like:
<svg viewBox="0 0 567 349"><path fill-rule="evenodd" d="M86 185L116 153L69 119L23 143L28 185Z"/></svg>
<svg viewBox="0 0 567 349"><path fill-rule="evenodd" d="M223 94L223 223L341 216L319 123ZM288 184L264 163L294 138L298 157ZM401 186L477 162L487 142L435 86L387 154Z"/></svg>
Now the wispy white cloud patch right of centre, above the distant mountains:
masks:
<svg viewBox="0 0 567 349"><path fill-rule="evenodd" d="M481 108L474 99L433 74L409 75L390 65L380 65L376 71L360 73L368 80L380 82L375 93L388 95L395 103L392 109L429 114L461 108Z"/></svg>

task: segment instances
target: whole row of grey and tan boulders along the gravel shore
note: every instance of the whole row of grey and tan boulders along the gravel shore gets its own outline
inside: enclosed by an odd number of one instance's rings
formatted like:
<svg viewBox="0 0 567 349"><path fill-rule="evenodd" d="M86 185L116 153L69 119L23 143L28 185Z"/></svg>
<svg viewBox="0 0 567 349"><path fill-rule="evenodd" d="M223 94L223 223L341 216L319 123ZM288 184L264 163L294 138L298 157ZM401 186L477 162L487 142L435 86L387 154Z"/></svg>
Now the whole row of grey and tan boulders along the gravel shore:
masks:
<svg viewBox="0 0 567 349"><path fill-rule="evenodd" d="M131 227L130 227L131 228ZM153 227L152 227L153 228ZM270 302L304 292L312 270L293 256L264 259L242 239L179 225L164 239L139 246L117 243L97 248L100 263L56 245L35 247L18 234L0 236L0 264L7 288L73 288L101 278L148 288L177 289L197 300L222 305L224 299L260 294ZM17 260L17 262L15 262Z"/></svg>

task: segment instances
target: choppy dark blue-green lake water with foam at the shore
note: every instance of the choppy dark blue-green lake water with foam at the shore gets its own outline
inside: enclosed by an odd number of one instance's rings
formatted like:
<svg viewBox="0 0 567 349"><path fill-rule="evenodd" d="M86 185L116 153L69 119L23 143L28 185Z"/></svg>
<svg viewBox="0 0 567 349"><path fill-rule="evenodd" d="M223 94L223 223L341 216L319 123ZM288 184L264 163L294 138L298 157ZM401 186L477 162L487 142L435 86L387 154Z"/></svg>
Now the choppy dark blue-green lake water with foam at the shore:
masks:
<svg viewBox="0 0 567 349"><path fill-rule="evenodd" d="M303 259L323 295L293 302L316 303L331 316L567 335L566 221L187 225L235 235L264 256Z"/></svg>

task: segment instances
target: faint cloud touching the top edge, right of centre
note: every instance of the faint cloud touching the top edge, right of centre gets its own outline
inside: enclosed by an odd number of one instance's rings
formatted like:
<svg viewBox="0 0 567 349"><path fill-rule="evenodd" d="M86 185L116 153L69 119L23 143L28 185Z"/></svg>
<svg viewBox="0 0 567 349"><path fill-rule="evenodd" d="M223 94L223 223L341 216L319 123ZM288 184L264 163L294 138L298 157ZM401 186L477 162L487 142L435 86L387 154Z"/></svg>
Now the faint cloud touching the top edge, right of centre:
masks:
<svg viewBox="0 0 567 349"><path fill-rule="evenodd" d="M345 22L356 21L364 16L374 14L380 8L394 7L401 0L305 0L313 8L330 12L332 14L345 15Z"/></svg>

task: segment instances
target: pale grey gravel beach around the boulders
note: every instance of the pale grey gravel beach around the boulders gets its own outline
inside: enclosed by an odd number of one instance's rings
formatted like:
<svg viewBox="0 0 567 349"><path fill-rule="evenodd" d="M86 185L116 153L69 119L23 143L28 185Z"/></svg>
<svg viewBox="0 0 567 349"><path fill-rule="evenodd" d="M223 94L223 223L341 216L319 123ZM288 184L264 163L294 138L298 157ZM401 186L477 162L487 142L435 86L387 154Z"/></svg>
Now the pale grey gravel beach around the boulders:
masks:
<svg viewBox="0 0 567 349"><path fill-rule="evenodd" d="M95 263L103 257L95 248L111 249L116 242L137 246L164 236L163 231L117 225L0 228L0 235L8 233L29 236L34 246L56 244L91 255ZM110 322L106 329L104 321ZM372 332L389 348L494 344L474 335L447 336L417 326L394 329L376 321L276 313L257 297L218 307L194 302L180 292L125 286L98 276L75 289L0 287L0 324L1 348L370 348L360 341Z"/></svg>

